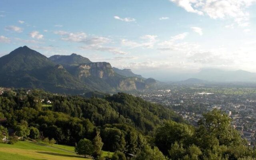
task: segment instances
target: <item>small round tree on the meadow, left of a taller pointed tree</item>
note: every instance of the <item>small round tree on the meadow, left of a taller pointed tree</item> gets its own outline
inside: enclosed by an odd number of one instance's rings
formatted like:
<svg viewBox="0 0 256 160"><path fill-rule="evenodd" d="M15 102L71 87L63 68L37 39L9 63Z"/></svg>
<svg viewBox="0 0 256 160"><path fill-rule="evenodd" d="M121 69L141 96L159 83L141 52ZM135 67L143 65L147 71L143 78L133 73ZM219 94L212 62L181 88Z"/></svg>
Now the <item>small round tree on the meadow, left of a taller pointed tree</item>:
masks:
<svg viewBox="0 0 256 160"><path fill-rule="evenodd" d="M75 152L80 155L92 155L93 145L92 142L86 138L80 140L76 145Z"/></svg>

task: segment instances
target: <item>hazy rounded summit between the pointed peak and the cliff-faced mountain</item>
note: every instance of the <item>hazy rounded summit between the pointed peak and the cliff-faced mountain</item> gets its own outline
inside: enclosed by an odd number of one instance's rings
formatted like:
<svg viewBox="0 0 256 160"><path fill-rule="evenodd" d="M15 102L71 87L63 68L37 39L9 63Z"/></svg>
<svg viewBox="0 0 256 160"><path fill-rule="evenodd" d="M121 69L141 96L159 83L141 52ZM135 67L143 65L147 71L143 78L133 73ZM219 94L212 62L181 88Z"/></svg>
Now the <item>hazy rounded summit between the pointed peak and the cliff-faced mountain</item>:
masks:
<svg viewBox="0 0 256 160"><path fill-rule="evenodd" d="M56 64L79 65L82 63L91 63L88 58L74 53L69 56L54 55L49 57L49 59Z"/></svg>

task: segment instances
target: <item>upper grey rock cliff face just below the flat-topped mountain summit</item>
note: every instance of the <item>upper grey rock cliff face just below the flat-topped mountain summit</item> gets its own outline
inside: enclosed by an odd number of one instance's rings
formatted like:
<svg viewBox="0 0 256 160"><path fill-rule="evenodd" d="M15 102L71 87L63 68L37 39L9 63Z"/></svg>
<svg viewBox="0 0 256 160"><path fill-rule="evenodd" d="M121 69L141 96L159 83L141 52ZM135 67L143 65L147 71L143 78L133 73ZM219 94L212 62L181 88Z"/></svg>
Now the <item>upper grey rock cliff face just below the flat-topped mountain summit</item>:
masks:
<svg viewBox="0 0 256 160"><path fill-rule="evenodd" d="M90 64L80 64L78 66L78 77L94 76L106 79L114 76L114 70L110 63L107 62L93 62Z"/></svg>

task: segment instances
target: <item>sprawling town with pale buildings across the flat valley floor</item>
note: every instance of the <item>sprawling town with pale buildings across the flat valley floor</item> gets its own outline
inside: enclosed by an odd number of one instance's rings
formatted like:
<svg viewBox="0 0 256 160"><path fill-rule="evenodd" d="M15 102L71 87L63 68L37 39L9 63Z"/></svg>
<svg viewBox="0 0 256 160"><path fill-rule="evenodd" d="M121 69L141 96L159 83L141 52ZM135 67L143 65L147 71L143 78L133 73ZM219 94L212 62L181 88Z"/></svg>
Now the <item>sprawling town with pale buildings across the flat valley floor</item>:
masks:
<svg viewBox="0 0 256 160"><path fill-rule="evenodd" d="M203 113L221 110L232 119L232 126L248 140L248 145L255 146L256 88L252 86L162 84L132 94L172 108L194 126Z"/></svg>

